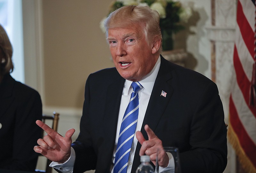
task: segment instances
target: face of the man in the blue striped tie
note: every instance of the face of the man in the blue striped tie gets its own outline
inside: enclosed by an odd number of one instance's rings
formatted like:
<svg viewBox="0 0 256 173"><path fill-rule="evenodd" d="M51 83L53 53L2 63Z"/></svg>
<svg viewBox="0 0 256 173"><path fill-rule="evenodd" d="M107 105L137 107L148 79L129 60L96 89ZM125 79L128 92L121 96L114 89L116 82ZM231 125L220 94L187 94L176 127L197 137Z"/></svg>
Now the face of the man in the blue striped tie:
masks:
<svg viewBox="0 0 256 173"><path fill-rule="evenodd" d="M152 54L152 44L146 41L140 25L109 29L108 43L116 69L124 79L140 81L156 64L158 55Z"/></svg>

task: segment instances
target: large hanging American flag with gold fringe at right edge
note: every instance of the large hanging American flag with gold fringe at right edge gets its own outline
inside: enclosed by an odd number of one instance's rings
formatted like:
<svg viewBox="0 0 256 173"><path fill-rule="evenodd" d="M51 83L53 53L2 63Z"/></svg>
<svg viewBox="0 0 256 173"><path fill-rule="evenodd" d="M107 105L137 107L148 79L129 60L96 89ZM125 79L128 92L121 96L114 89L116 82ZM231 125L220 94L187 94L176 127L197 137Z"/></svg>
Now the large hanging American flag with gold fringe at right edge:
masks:
<svg viewBox="0 0 256 173"><path fill-rule="evenodd" d="M244 170L256 173L255 0L238 0L228 139Z"/></svg>

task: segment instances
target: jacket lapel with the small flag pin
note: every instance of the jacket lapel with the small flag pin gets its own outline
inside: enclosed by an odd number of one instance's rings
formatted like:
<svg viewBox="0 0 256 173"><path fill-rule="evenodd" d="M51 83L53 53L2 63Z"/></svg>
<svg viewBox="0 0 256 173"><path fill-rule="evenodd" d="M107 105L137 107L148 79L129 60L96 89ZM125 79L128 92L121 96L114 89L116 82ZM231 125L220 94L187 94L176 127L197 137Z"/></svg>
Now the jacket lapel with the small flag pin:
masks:
<svg viewBox="0 0 256 173"><path fill-rule="evenodd" d="M147 107L143 124L141 127L141 132L146 140L148 140L148 135L144 130L144 126L148 124L148 126L153 131L155 131L156 126L160 118L162 117L164 110L168 102L170 101L173 93L173 88L169 83L169 81L172 78L172 74L171 74L171 69L169 69L170 67L166 65L168 63L170 62L168 62L161 56L160 69L156 77L156 81L148 102L148 107ZM161 96L162 90L167 93L166 97ZM135 157L132 164L132 172L135 172L136 168L140 164L140 157L138 157L140 152L140 147L141 145L138 142L136 147Z"/></svg>

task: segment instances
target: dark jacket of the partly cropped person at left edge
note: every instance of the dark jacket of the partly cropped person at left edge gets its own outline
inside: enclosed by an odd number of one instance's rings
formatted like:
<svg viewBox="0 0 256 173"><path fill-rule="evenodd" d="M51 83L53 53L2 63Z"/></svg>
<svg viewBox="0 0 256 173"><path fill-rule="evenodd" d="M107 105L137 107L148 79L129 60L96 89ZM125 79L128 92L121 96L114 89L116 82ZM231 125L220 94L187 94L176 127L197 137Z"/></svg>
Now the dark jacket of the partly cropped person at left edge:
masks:
<svg viewBox="0 0 256 173"><path fill-rule="evenodd" d="M40 95L6 74L0 84L0 169L35 171L38 154L33 150L41 129Z"/></svg>

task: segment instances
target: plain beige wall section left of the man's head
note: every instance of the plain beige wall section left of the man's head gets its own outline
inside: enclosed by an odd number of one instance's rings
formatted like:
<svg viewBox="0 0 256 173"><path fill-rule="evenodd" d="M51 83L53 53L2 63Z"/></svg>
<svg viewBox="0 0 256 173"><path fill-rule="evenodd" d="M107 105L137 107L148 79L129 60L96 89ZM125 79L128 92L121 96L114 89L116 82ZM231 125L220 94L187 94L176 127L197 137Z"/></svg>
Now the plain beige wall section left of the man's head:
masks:
<svg viewBox="0 0 256 173"><path fill-rule="evenodd" d="M99 27L110 2L42 1L44 106L82 108L88 75L113 67Z"/></svg>

